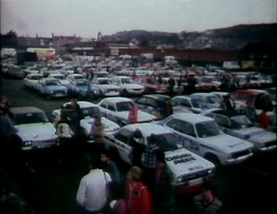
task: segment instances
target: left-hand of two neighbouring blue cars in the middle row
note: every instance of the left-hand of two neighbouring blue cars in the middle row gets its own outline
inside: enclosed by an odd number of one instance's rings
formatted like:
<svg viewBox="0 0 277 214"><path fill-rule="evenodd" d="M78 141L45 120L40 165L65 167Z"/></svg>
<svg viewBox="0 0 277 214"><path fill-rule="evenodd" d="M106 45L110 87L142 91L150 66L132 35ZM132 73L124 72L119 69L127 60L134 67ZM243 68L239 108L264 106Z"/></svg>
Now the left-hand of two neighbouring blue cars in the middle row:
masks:
<svg viewBox="0 0 277 214"><path fill-rule="evenodd" d="M55 78L43 78L34 85L38 94L45 95L47 99L51 97L66 97L67 88L60 84Z"/></svg>

